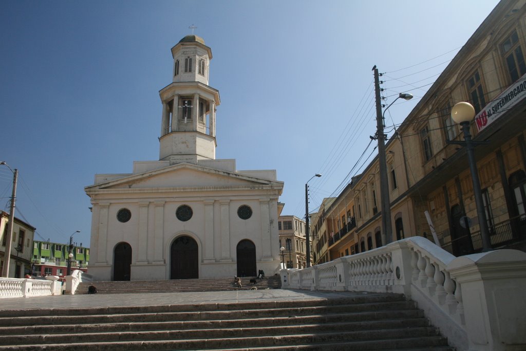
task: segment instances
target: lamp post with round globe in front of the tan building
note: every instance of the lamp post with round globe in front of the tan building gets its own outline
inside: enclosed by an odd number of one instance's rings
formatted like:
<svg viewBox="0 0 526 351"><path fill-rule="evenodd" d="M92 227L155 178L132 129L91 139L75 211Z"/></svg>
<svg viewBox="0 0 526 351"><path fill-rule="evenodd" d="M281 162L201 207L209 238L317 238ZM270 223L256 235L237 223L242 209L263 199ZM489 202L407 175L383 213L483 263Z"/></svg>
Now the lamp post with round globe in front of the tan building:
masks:
<svg viewBox="0 0 526 351"><path fill-rule="evenodd" d="M479 173L477 171L477 161L475 160L474 147L475 144L480 144L472 141L469 131L469 123L475 116L475 109L470 103L460 102L451 109L451 118L453 121L461 125L464 133L464 142L457 142L454 144L465 145L468 153L468 163L471 172L471 180L473 182L473 194L475 196L475 204L477 205L477 216L479 217L480 237L482 239L482 252L491 251L491 240L488 229L488 219L484 210L484 202L482 200L482 190L480 188Z"/></svg>

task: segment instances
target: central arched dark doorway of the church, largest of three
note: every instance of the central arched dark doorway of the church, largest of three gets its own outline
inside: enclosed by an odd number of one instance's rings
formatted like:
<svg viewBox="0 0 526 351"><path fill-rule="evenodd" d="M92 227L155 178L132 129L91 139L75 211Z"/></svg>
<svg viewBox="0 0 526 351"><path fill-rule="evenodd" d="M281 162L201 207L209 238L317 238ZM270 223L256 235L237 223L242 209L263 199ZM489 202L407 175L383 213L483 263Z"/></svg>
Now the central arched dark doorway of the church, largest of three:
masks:
<svg viewBox="0 0 526 351"><path fill-rule="evenodd" d="M170 279L199 278L199 246L183 235L175 239L170 251Z"/></svg>

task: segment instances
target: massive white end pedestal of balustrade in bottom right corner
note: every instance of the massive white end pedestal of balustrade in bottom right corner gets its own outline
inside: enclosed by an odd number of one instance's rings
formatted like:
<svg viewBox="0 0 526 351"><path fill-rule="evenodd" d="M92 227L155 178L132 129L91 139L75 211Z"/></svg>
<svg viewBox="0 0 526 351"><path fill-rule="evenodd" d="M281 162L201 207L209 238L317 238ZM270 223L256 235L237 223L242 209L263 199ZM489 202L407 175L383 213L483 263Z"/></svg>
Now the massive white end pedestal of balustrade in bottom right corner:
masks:
<svg viewBox="0 0 526 351"><path fill-rule="evenodd" d="M526 349L526 253L461 256L447 269L462 286L469 350Z"/></svg>

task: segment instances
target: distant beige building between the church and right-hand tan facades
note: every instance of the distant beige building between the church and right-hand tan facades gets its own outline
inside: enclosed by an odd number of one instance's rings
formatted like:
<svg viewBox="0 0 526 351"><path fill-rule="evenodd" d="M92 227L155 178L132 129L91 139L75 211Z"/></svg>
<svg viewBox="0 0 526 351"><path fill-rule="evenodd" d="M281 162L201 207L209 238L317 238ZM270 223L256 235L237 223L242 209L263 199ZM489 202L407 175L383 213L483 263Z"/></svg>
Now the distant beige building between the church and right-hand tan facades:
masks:
<svg viewBox="0 0 526 351"><path fill-rule="evenodd" d="M286 268L307 267L305 225L305 221L296 216L278 217L279 246L285 248L281 258Z"/></svg>

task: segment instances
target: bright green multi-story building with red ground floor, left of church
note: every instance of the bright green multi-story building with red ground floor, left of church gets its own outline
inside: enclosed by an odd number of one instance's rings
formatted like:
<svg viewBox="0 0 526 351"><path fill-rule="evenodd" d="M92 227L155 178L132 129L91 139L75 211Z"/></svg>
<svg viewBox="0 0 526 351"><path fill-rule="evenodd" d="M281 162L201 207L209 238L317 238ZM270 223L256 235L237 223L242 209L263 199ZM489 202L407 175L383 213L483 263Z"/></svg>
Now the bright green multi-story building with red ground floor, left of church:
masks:
<svg viewBox="0 0 526 351"><path fill-rule="evenodd" d="M72 249L71 268L87 272L89 247L74 245ZM41 242L35 240L33 245L33 274L36 276L56 275L63 278L67 273L69 245Z"/></svg>

